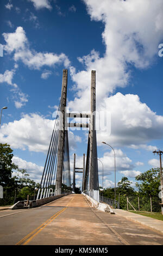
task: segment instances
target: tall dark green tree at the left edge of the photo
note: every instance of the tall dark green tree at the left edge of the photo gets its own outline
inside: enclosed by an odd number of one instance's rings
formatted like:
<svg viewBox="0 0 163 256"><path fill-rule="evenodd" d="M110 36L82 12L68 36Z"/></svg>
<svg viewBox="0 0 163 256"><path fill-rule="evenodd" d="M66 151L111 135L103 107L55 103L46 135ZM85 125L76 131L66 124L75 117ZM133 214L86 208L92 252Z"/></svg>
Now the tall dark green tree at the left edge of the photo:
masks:
<svg viewBox="0 0 163 256"><path fill-rule="evenodd" d="M11 179L12 169L17 169L18 166L12 163L12 149L8 144L0 143L0 185L3 187L10 186L13 183Z"/></svg>

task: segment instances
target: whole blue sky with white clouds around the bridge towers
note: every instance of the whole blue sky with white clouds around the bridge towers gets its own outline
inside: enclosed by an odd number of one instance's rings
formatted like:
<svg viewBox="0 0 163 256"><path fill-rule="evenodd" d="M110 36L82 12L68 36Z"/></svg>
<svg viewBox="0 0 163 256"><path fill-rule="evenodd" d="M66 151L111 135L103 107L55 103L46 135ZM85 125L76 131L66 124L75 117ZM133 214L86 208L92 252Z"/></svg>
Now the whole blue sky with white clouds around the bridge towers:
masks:
<svg viewBox="0 0 163 256"><path fill-rule="evenodd" d="M96 70L97 111L108 111L111 133L97 131L104 187L122 176L159 164L162 150L163 43L158 0L4 0L0 3L0 141L14 150L13 161L40 181L59 104L62 70L68 70L67 106L90 110L91 70ZM82 166L87 132L71 130L70 156ZM102 185L102 166L99 183ZM71 169L72 170L72 169ZM77 175L81 186L82 175Z"/></svg>

